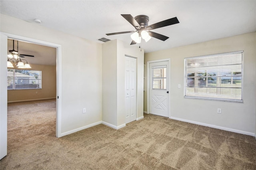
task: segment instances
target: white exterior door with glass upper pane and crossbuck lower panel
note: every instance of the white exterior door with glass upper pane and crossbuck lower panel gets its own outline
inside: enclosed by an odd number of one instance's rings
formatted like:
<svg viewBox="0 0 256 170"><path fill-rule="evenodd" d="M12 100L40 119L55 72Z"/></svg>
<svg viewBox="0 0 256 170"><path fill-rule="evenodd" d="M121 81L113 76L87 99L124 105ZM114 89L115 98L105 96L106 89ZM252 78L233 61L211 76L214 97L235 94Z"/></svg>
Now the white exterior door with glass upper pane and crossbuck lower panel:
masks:
<svg viewBox="0 0 256 170"><path fill-rule="evenodd" d="M150 113L169 117L168 61L150 63Z"/></svg>

